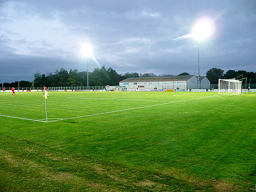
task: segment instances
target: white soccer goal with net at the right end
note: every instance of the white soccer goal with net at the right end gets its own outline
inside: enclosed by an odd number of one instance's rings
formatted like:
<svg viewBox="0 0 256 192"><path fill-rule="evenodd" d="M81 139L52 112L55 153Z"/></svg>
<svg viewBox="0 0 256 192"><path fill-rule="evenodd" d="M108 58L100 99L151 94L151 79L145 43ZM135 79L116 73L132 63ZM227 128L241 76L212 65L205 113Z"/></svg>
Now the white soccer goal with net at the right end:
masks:
<svg viewBox="0 0 256 192"><path fill-rule="evenodd" d="M219 95L238 95L241 93L242 81L236 79L219 79Z"/></svg>

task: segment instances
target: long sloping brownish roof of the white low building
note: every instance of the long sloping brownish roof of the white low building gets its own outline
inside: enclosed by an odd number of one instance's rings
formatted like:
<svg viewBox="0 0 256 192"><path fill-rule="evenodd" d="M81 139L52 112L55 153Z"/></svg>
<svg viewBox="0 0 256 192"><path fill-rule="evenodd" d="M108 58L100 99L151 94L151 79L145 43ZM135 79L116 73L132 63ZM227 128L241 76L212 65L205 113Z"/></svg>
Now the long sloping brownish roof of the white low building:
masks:
<svg viewBox="0 0 256 192"><path fill-rule="evenodd" d="M129 77L119 83L123 82L144 82L144 81L186 81L195 75L188 76L162 76L162 77Z"/></svg>

